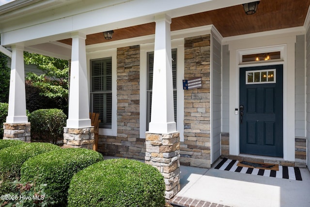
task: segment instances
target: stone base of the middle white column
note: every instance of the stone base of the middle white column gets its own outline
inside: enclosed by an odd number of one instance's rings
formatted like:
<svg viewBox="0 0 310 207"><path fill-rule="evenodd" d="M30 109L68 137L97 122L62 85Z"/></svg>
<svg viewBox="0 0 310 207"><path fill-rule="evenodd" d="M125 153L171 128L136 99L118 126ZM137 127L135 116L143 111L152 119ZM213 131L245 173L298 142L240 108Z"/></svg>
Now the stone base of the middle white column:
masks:
<svg viewBox="0 0 310 207"><path fill-rule="evenodd" d="M63 128L63 147L81 147L93 149L94 127L89 128Z"/></svg>

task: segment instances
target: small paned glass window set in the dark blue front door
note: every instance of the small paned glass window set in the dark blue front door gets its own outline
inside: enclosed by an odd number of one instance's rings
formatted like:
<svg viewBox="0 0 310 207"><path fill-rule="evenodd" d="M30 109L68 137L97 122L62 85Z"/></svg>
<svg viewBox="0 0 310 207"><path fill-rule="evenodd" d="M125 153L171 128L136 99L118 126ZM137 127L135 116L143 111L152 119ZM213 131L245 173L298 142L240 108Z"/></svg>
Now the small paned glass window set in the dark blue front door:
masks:
<svg viewBox="0 0 310 207"><path fill-rule="evenodd" d="M276 69L246 71L246 84L276 83Z"/></svg>

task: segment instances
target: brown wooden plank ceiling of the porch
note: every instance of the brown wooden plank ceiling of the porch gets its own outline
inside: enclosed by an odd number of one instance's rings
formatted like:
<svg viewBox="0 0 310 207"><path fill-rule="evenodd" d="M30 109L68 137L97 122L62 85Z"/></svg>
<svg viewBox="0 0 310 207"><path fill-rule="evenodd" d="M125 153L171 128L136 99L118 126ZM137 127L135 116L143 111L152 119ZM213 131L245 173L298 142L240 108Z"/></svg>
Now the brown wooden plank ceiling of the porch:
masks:
<svg viewBox="0 0 310 207"><path fill-rule="evenodd" d="M223 37L303 26L310 0L261 0L254 15L237 5L209 12L172 18L171 31L213 24ZM102 31L104 32L104 31ZM86 45L139 37L155 33L155 22L114 30L106 40L102 32L87 35ZM71 39L60 40L71 45Z"/></svg>

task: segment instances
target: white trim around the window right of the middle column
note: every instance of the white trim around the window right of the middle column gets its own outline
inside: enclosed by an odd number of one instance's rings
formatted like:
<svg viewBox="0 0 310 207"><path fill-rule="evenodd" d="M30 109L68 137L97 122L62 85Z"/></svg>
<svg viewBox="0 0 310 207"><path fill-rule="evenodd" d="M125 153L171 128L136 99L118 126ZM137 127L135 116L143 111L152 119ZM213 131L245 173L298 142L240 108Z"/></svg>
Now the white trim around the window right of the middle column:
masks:
<svg viewBox="0 0 310 207"><path fill-rule="evenodd" d="M91 84L91 60L109 57L112 58L112 123L111 128L99 128L99 135L117 136L117 49L89 52L86 54L86 57L89 84ZM88 88L90 90L91 85L89 85ZM90 91L88 93L90 93Z"/></svg>

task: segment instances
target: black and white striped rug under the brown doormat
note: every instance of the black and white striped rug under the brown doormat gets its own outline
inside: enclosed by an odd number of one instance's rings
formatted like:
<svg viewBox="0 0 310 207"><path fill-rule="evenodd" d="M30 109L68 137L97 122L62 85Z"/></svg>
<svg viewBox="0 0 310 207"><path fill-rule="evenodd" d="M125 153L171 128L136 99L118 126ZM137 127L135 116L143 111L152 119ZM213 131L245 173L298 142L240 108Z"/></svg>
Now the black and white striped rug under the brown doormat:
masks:
<svg viewBox="0 0 310 207"><path fill-rule="evenodd" d="M275 171L275 170L263 170L258 168L240 167L237 166L237 163L238 160L223 158L223 160L217 164L215 169L252 174L252 175L285 178L291 180L302 180L300 170L298 167L287 167L279 165L279 171Z"/></svg>

